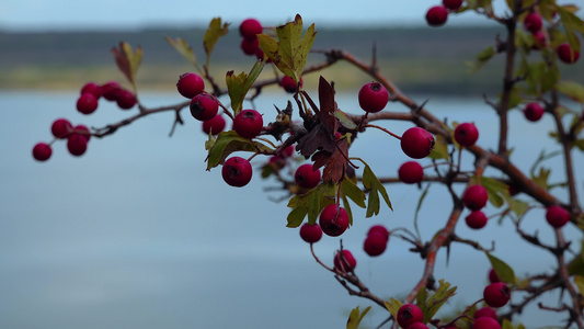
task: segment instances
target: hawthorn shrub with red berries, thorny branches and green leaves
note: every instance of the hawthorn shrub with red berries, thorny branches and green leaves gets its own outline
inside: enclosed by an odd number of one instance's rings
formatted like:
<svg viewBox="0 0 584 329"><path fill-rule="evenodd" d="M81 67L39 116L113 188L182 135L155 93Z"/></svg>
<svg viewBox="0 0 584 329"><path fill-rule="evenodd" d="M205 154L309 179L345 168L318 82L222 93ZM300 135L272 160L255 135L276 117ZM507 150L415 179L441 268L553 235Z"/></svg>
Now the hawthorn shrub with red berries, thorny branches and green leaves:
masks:
<svg viewBox="0 0 584 329"><path fill-rule="evenodd" d="M342 288L370 299L387 311L388 319L379 327L524 328L522 311L538 303L541 313L563 316L564 321L558 325L584 328L582 243L564 236L565 230L582 231L584 228L576 192L579 168L573 160L573 152L584 150L584 86L562 80L562 71L579 60L584 22L575 14L576 5L560 5L556 0L507 0L505 4L504 15L495 13L491 1L477 0L444 0L425 15L421 13L428 29L439 29L454 19L449 16L467 12L478 13L506 29L505 35L496 36L491 45L478 52L472 65L472 70L479 70L491 58L504 57L500 94L496 99L484 97L485 106L491 107L499 120L499 126L489 132L497 134L495 149L481 147L479 136L483 132L473 123L437 117L425 103L419 104L400 91L389 77L380 73L375 54L374 60L366 64L344 50L314 50L316 26L311 24L305 29L298 14L280 26L264 26L249 19L234 29L242 36L242 53L234 56L253 56L256 61L248 72L228 71L225 78L211 76L209 67L214 47L230 32L230 24L218 18L210 21L203 39L206 53L203 65L185 39L167 37L193 65L193 71L176 76L178 102L156 109L140 102L136 88L142 49L121 43L113 55L130 88L122 87L118 81L88 82L81 88L77 110L90 115L99 111L100 102L111 101L121 110L133 112L121 122L92 128L57 118L51 125L53 140L35 145L33 157L38 161L49 160L51 147L59 143L65 143L71 155L80 157L91 149L90 139L113 135L157 113L174 115L174 131L185 120L183 110L190 109L193 118L188 120L202 122L202 129L208 136L205 141L207 170L220 167L225 182L239 189L245 189L252 179L271 178L280 182L282 190L289 195L286 226L300 228L299 236L309 243L316 262L330 271ZM307 66L309 56L320 56L322 61ZM316 94L302 88L302 79L314 77L341 61L348 63L371 80L358 92L362 114L341 110L335 101L334 81L329 81L324 75L318 77ZM260 80L260 76L267 78ZM286 90L282 104L275 110L244 107L248 104L253 107L253 100L261 98L263 88L268 86ZM401 107L388 106L389 103ZM542 151L530 172L516 166L507 143L508 116L514 110L523 111L530 122L543 115L553 120L556 131L550 138L557 143L563 164L553 169L562 171L561 183L550 183L550 169L542 167L541 162L550 154ZM231 124L226 124L226 120ZM401 135L396 134L389 128L392 121L410 122L411 127ZM370 129L399 139L401 150L396 148L396 151L403 151L415 161L404 163L396 177L378 178L366 159L351 155L353 145L359 143L358 136ZM250 164L253 158L261 159L263 166L254 169ZM305 163L300 166L299 159ZM485 174L488 169L491 174ZM420 188L419 207L411 218L404 219L417 220L417 211L431 185L443 185L451 198L451 204L445 205L450 207L449 216L435 218L440 220L442 228L427 240L423 240L420 232L399 228L391 220L370 227L364 238L363 248L369 257L381 256L391 248L390 240L397 240L396 243L410 245L411 252L423 259L424 268L417 274L417 283L406 291L393 291L404 294L400 299L397 295L382 298L370 291L358 276L359 260L343 248L342 242L334 252L334 260L329 262L332 266L321 261L313 248L323 238L341 241L352 225L364 225L360 218L353 217L352 207L364 208L366 217L378 215L381 207L392 208L386 185L397 183ZM455 185L460 188L455 189ZM488 204L492 207L485 211ZM499 211L490 213L491 208ZM549 225L541 229L553 231L554 240L542 240L537 232L523 229L526 215L534 209L546 209ZM553 256L554 268L517 276L512 264L503 261L509 250L481 246L457 232L459 222L480 230L485 225L494 225L488 224L493 218L511 223L518 239L533 245L538 252ZM438 252L447 252L451 243L468 245L479 257L488 258L492 269L485 277L489 276L491 283L484 286L484 295L473 303L454 310L450 306L447 313L438 314L457 290L447 277L434 276ZM557 304L538 302L543 293L551 291L563 293ZM369 308L353 309L347 328L358 328Z"/></svg>

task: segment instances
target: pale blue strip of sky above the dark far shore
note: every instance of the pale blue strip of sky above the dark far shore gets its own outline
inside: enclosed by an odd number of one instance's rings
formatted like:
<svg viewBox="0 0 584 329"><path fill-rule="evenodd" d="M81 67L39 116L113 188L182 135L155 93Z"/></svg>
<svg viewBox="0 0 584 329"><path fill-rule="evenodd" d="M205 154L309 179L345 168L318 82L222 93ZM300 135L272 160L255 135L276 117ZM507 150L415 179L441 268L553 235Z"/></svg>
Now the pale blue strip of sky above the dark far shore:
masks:
<svg viewBox="0 0 584 329"><path fill-rule="evenodd" d="M569 3L581 0L561 0ZM218 4L221 3L221 4ZM300 13L305 21L324 25L419 25L440 0L335 1L185 1L185 0L2 0L0 29L16 31L70 29L140 29L151 25L206 25L210 18L238 22L254 16L279 24ZM495 10L503 0L493 1ZM448 24L485 22L474 13L449 19Z"/></svg>

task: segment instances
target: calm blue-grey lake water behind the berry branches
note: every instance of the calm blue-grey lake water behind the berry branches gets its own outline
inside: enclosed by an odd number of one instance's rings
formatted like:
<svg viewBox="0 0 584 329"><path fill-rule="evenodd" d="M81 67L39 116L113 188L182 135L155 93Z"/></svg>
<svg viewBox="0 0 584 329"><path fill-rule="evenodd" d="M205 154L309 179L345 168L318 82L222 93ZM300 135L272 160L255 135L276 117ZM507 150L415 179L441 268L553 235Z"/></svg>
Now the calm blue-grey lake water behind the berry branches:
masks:
<svg viewBox="0 0 584 329"><path fill-rule="evenodd" d="M283 97L261 99L257 110L275 115L273 104L284 107ZM167 113L91 140L80 158L69 156L65 143L57 141L49 161L34 161L33 145L49 140L57 117L103 126L127 115L101 102L98 112L83 116L75 111L75 101L76 94L68 92L0 92L0 328L344 328L351 308L370 305L348 296L313 261L298 230L285 227L286 202L271 202L263 191L275 182L255 175L250 185L233 189L222 182L220 170L205 171L205 136L186 112L186 124L172 138L168 134L173 116ZM142 97L149 106L180 101L173 93ZM358 113L356 95L343 95L339 104ZM496 116L480 99L431 98L427 107L449 121L474 121L479 144L495 147ZM404 111L397 104L389 109ZM511 118L513 159L522 169L529 169L541 148L558 149L547 138L550 117L531 124L513 111ZM411 125L386 126L401 134ZM398 140L378 131L360 136L352 156L367 160L379 177L396 175L408 160ZM584 159L582 152L574 156L582 195ZM262 161L256 157L253 164ZM471 168L472 161L467 155L463 167ZM561 181L559 158L547 164L554 169L551 181ZM379 258L362 251L373 224L413 227L420 191L389 185L388 192L393 212L382 208L378 217L364 218L364 212L353 207L355 226L343 235L343 245L357 258L357 274L386 298L403 296L423 266L399 239ZM431 189L420 213L425 239L449 211L446 191ZM539 228L540 238L553 243L543 222L543 211L534 211L525 229ZM457 229L486 247L496 239L501 251L495 254L519 276L553 268L549 254L509 230L508 223L494 222L478 231L461 222ZM564 231L571 239L582 238L571 225ZM316 251L332 263L337 247L339 239L325 237ZM453 308L481 298L490 268L484 254L454 245L449 265L445 263L443 251L436 276L459 287ZM545 299L554 305L557 295ZM386 315L374 306L365 327L375 328ZM523 321L533 328L554 325L558 317L531 307Z"/></svg>

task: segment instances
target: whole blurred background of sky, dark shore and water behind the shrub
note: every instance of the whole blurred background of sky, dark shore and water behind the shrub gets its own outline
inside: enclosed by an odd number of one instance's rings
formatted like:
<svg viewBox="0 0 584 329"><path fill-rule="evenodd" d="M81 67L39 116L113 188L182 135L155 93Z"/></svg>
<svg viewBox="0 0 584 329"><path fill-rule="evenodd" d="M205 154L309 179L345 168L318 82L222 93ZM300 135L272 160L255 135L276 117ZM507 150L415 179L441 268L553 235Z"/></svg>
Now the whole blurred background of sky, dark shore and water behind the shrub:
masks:
<svg viewBox="0 0 584 329"><path fill-rule="evenodd" d="M139 98L154 107L183 102L174 86L181 73L194 70L164 36L185 38L203 63L208 22L215 16L230 22L231 33L217 44L210 66L221 81L227 70L248 71L255 61L239 49L237 27L242 20L253 16L275 26L300 13L305 24L316 23L314 48L342 48L369 60L375 43L381 71L403 91L420 103L427 100L427 109L440 117L474 122L479 144L496 146L496 116L482 97L496 98L501 58L473 75L465 63L503 31L478 15L450 15L445 26L434 29L425 25L424 15L438 1L197 2L0 3L0 328L343 328L353 307L370 305L348 296L314 262L298 230L285 227L287 201L271 198L287 194L265 191L277 182L254 174L248 186L234 189L222 182L219 169L205 171L206 136L187 113L172 138L174 116L167 113L92 139L80 158L70 156L61 140L53 145L47 162L32 158L34 144L50 141L50 124L58 117L103 127L137 111L124 112L103 100L90 116L75 110L85 82L125 83L110 53L122 41L145 52ZM502 1L494 3L503 9ZM322 60L319 54L309 58ZM566 79L583 82L582 60L561 69ZM262 73L271 75L270 69ZM357 91L369 78L343 64L322 75L335 81L339 106L359 113ZM304 81L313 92L318 75ZM273 117L274 105L282 109L288 99L279 88L266 88L254 105L264 117ZM388 110L406 111L398 104ZM527 123L514 110L511 120L513 159L523 170L529 170L540 149L559 149L547 137L553 129L550 117ZM386 126L401 134L411 124ZM408 160L398 141L381 132L359 136L352 156L364 158L378 177L397 175ZM582 168L582 154L574 156L576 168ZM265 161L256 157L252 164L259 169ZM472 161L463 157L462 166L470 169ZM545 166L552 169L550 181L563 180L559 157ZM581 170L576 178L582 195ZM362 243L374 224L413 229L421 190L388 185L388 193L393 211L382 207L379 216L365 218L354 206L355 225L342 239L371 291L400 298L420 279L423 261L398 238L379 258L367 257ZM565 200L561 193L558 197ZM432 188L419 215L424 239L444 225L449 211L446 191ZM499 212L486 209L495 217ZM525 229L554 242L543 209L530 213ZM522 242L508 220L499 225L493 219L481 230L470 230L461 220L457 231L485 247L496 241L494 254L518 276L554 268L553 258ZM575 241L582 238L570 225L564 231ZM332 265L339 243L324 237L316 252ZM481 298L490 265L468 246L453 246L446 263L440 252L437 279L459 287L445 309L448 314ZM543 298L554 305L560 297ZM374 306L364 328L376 328L386 318L387 313ZM558 319L531 307L522 321L534 328L557 325Z"/></svg>

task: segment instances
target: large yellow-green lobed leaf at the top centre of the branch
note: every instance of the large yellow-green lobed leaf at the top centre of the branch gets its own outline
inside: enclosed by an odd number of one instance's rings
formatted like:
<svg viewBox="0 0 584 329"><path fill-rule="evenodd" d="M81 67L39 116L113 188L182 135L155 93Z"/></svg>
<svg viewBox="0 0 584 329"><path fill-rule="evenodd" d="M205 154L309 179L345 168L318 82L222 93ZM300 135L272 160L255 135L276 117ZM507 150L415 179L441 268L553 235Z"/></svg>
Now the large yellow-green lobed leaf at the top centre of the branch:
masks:
<svg viewBox="0 0 584 329"><path fill-rule="evenodd" d="M308 27L302 37L302 18L297 14L293 22L276 27L276 35L278 41L259 34L260 48L284 75L298 83L317 36L314 24Z"/></svg>

